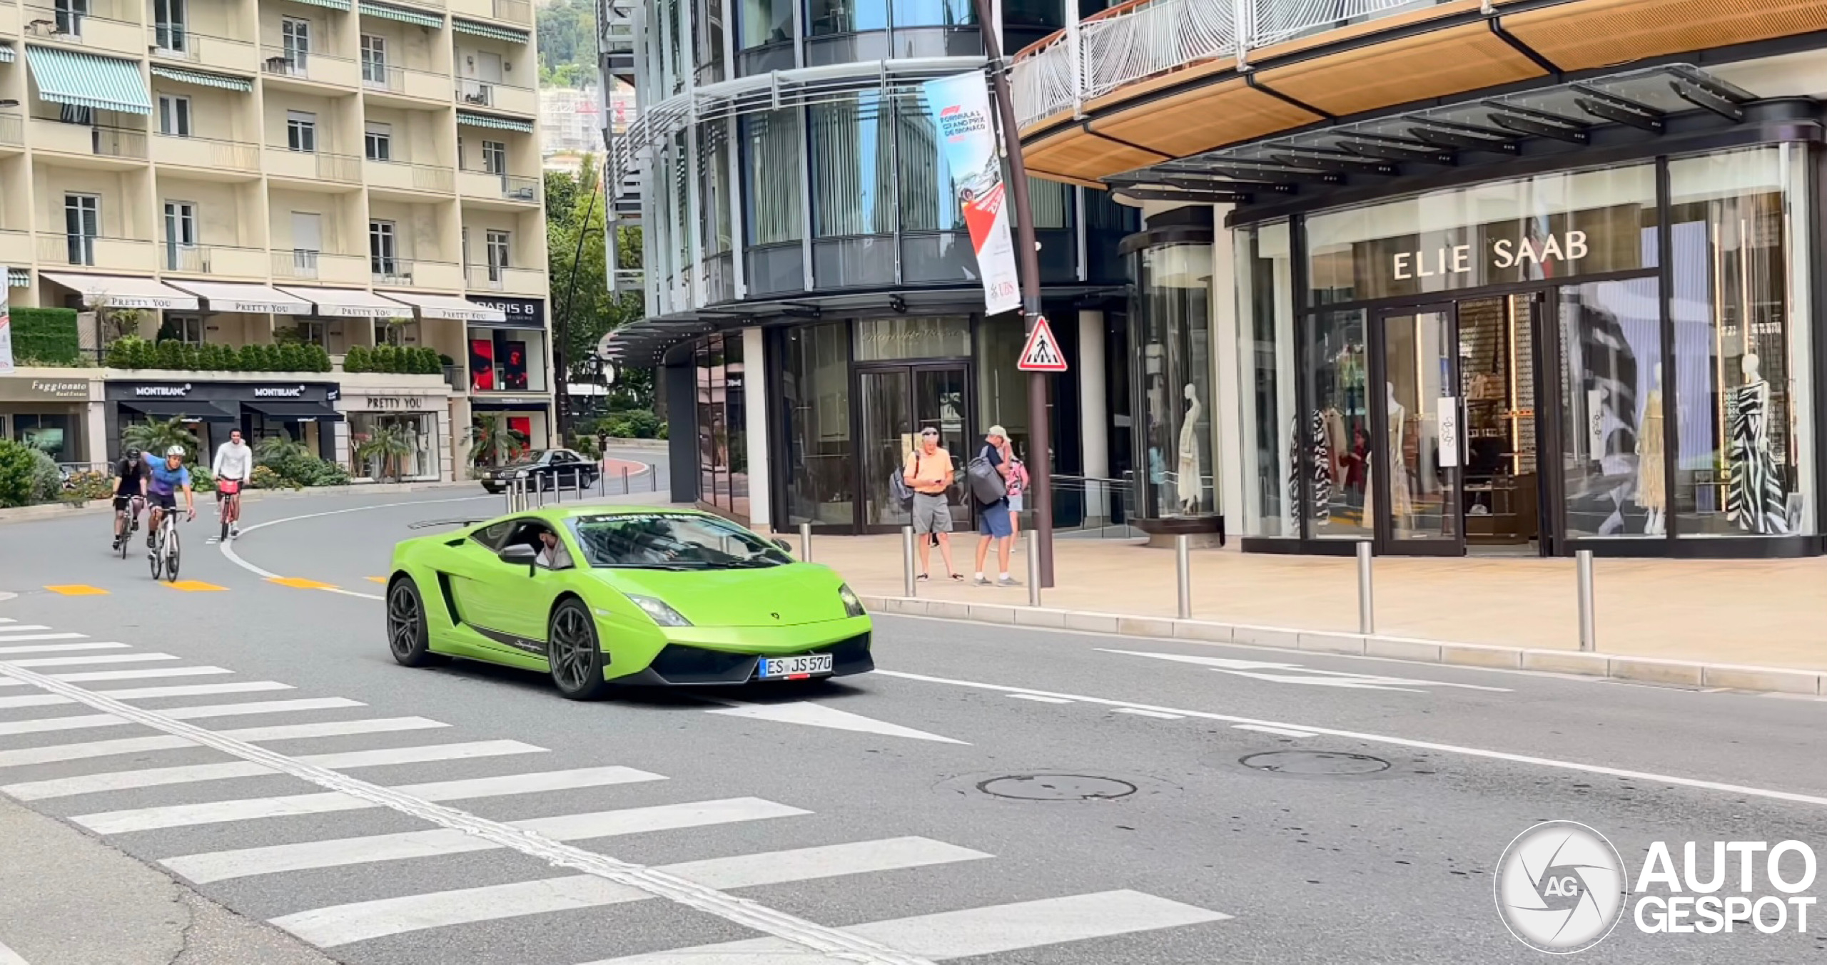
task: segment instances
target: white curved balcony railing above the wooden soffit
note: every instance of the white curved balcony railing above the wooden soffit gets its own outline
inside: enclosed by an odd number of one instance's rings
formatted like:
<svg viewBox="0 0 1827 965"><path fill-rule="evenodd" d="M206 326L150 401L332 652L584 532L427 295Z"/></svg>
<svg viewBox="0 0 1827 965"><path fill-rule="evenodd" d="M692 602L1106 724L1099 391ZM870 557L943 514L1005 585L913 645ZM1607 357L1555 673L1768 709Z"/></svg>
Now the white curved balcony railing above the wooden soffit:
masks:
<svg viewBox="0 0 1827 965"><path fill-rule="evenodd" d="M1114 5L1016 55L1016 122L1029 126L1087 100L1200 60L1250 51L1445 0L1140 0Z"/></svg>

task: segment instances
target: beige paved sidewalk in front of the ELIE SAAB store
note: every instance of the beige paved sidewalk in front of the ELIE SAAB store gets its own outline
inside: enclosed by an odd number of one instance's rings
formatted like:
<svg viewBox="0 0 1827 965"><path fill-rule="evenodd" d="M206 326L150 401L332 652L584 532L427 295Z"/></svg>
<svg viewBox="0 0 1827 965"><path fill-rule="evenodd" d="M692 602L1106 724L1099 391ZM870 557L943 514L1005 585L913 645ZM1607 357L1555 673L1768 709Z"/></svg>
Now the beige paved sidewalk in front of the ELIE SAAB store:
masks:
<svg viewBox="0 0 1827 965"><path fill-rule="evenodd" d="M793 536L797 545L797 536ZM976 534L952 556L974 573ZM857 593L903 597L901 536L815 536L813 560ZM990 578L994 578L994 558ZM1357 564L1337 556L1193 551L1193 618L1357 633ZM928 600L1027 606L1027 587L945 580L937 549ZM1027 580L1016 553L1010 575ZM1573 560L1376 560L1376 633L1438 642L1579 649ZM1140 540L1058 540L1045 607L1136 617L1177 611L1175 556ZM1597 649L1772 668L1827 669L1827 560L1593 560Z"/></svg>

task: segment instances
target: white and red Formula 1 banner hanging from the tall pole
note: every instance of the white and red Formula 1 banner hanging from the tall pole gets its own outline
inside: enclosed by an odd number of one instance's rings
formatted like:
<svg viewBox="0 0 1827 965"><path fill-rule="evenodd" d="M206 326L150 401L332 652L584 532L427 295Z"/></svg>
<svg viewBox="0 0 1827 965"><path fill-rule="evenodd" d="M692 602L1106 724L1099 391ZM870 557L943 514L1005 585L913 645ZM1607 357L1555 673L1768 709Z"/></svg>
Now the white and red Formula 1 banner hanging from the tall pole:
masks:
<svg viewBox="0 0 1827 965"><path fill-rule="evenodd" d="M939 130L939 150L952 168L952 192L965 212L970 246L977 252L983 310L990 316L1014 312L1021 308L1021 286L1016 283L1016 246L1009 241L1007 190L1003 162L996 155L990 91L981 73L941 77L928 80L924 88L926 111Z"/></svg>

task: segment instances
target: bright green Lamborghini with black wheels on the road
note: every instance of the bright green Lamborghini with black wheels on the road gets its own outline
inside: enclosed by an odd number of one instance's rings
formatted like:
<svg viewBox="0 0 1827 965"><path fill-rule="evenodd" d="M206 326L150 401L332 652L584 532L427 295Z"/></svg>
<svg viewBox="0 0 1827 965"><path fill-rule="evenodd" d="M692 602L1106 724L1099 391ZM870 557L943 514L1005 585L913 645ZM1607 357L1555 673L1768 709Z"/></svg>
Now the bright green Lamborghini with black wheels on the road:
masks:
<svg viewBox="0 0 1827 965"><path fill-rule="evenodd" d="M459 522L393 549L387 646L406 666L546 671L574 700L875 669L870 617L837 573L720 516L576 505Z"/></svg>

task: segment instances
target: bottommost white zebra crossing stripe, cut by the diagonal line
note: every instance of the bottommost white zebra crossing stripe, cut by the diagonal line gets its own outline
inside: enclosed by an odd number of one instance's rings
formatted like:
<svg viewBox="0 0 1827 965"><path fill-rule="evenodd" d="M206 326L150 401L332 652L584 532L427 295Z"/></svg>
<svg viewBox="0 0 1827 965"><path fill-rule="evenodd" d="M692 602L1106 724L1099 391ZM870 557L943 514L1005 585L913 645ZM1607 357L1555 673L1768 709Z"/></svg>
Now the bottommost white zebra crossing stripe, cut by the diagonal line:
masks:
<svg viewBox="0 0 1827 965"><path fill-rule="evenodd" d="M945 961L1091 938L1182 929L1228 918L1231 916L1122 890L871 921L844 930L921 958ZM820 965L820 961L829 960L806 956L784 941L753 938L610 958L590 965Z"/></svg>

